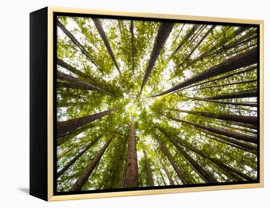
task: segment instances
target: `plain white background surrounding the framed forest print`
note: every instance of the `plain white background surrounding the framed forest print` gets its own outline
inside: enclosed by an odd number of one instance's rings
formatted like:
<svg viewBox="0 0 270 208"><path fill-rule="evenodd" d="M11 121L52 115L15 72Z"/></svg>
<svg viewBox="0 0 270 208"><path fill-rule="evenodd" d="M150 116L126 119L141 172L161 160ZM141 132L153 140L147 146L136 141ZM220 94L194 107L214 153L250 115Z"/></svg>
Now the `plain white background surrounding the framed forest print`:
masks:
<svg viewBox="0 0 270 208"><path fill-rule="evenodd" d="M0 12L0 207L269 207L270 15L266 0L2 0ZM29 12L45 6L265 21L265 187L47 203L28 195ZM268 194L267 194L268 193Z"/></svg>

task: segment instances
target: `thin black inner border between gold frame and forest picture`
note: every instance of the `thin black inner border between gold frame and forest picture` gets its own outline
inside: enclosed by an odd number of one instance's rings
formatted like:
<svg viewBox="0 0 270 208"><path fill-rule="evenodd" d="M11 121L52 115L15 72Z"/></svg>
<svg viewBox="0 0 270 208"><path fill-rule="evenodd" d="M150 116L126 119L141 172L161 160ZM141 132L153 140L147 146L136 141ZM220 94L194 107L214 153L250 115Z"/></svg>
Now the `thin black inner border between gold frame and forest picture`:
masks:
<svg viewBox="0 0 270 208"><path fill-rule="evenodd" d="M149 187L136 187L136 188L115 188L115 189L98 189L98 190L81 190L81 191L62 191L57 192L57 145L56 145L56 122L57 122L57 100L56 100L56 58L57 58L57 16L67 17L95 17L103 19L121 19L121 20L137 20L137 21L156 21L156 22L174 22L174 23L187 23L187 24L204 24L204 25L220 25L220 26L234 26L234 27L252 27L257 29L257 180L249 181L232 181L232 182L216 182L216 183L200 183L200 184L182 184L182 185L166 185L166 186L149 186ZM213 19L215 19L213 17ZM204 186L217 186L217 185L236 185L236 184L252 184L260 183L260 25L257 24L240 24L240 23L225 23L215 21L194 21L194 20L175 20L175 19L162 19L162 18L145 18L145 17L130 17L130 16L117 16L117 15L97 15L97 14L81 14L81 13L68 13L68 12L53 12L53 195L74 195L74 194L91 194L91 193L108 193L108 192L123 192L123 191L139 191L139 190L157 190L157 189L171 189L171 188L186 188L186 187L204 187Z"/></svg>

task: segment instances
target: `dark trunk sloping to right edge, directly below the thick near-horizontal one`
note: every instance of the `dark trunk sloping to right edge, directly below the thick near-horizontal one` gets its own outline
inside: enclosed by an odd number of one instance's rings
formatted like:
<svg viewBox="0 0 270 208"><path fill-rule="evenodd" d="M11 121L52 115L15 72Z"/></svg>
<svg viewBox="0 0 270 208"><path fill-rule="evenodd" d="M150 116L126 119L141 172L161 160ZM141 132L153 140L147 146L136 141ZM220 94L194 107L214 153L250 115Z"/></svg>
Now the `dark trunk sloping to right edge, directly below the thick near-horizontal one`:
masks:
<svg viewBox="0 0 270 208"><path fill-rule="evenodd" d="M242 140L242 141L245 141L245 142L251 142L251 143L257 144L257 137L254 137L254 136L240 134L240 133L235 133L235 132L232 132L232 131L228 131L228 130L224 130L224 129L218 129L218 128L213 128L213 127L210 127L210 126L203 126L203 125L200 125L200 124L197 124L197 123L189 122L187 120L182 120L182 119L177 119L177 118L171 118L171 117L168 117L168 116L165 116L165 115L164 115L164 117L166 117L168 119L180 121L180 122L183 122L183 123L187 123L187 124L189 124L191 126L195 126L197 128L200 128L200 129L211 131L211 132L216 133L216 134L221 134L223 136L232 137L232 138L235 138L235 139L238 139L238 140Z"/></svg>

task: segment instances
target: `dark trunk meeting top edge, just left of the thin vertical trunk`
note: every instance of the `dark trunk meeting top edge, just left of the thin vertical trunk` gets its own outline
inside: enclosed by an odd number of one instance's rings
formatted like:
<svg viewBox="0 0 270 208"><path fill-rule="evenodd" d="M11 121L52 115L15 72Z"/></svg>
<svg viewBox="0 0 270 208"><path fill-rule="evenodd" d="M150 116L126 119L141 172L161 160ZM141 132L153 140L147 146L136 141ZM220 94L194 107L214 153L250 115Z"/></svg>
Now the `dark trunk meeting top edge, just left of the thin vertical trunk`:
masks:
<svg viewBox="0 0 270 208"><path fill-rule="evenodd" d="M94 22L94 24L95 24L95 26L96 26L102 40L103 40L103 42L104 42L104 44L105 44L105 46L106 46L106 48L108 50L108 53L109 53L114 65L115 65L115 67L117 68L117 70L118 70L119 74L121 75L121 77L123 77L123 74L120 71L118 63L117 63L117 61L116 61L116 59L114 57L114 54L112 52L112 49L111 49L109 41L108 41L108 38L107 38L107 36L105 34L105 31L103 30L103 27L102 27L102 24L101 24L100 20L98 18L92 18L92 20L93 20L93 22Z"/></svg>

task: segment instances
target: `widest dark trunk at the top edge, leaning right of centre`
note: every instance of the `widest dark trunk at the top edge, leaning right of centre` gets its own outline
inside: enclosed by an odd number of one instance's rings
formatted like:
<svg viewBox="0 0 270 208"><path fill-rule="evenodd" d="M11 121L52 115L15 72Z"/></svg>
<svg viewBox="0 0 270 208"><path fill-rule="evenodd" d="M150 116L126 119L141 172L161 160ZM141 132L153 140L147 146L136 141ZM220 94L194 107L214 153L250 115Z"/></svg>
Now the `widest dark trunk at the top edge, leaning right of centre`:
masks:
<svg viewBox="0 0 270 208"><path fill-rule="evenodd" d="M141 93L143 87L145 86L157 59L160 56L162 48L163 48L167 38L170 35L170 32L171 32L173 26L174 26L174 23L166 23L166 22L161 23L158 34L156 36L156 40L154 43L152 54L151 54L149 62L148 62L148 66L147 66L147 69L145 71L144 78L142 80L139 94Z"/></svg>

